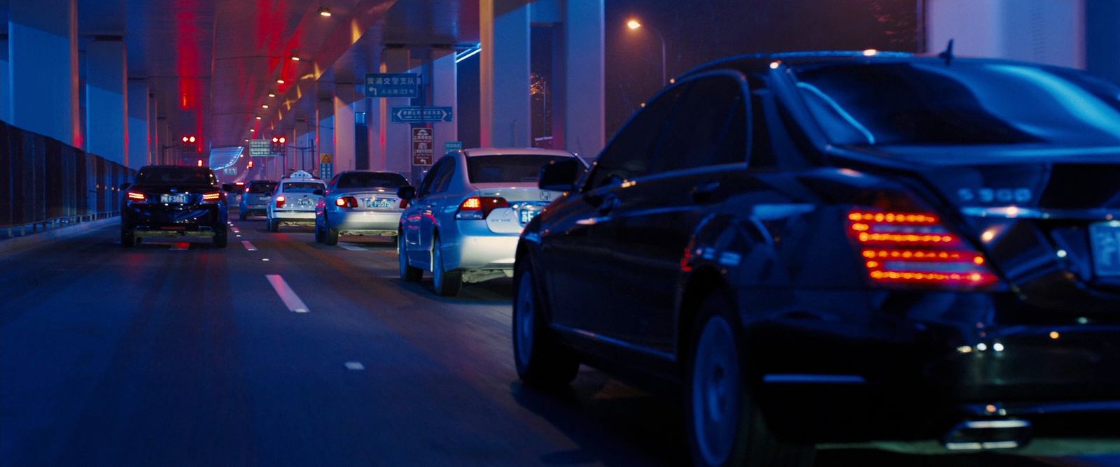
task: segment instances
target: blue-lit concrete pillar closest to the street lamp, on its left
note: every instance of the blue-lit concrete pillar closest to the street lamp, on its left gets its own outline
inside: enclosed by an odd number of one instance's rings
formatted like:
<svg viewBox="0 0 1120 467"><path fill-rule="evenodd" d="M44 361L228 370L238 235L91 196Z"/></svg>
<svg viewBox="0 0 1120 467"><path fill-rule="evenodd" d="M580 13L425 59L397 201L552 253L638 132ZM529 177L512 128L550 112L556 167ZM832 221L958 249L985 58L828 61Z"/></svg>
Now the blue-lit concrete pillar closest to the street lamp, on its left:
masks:
<svg viewBox="0 0 1120 467"><path fill-rule="evenodd" d="M606 145L606 51L604 0L568 0L563 72L553 86L553 115L563 117L562 149L595 159ZM557 136L557 134L554 134ZM554 146L561 147L561 146Z"/></svg>

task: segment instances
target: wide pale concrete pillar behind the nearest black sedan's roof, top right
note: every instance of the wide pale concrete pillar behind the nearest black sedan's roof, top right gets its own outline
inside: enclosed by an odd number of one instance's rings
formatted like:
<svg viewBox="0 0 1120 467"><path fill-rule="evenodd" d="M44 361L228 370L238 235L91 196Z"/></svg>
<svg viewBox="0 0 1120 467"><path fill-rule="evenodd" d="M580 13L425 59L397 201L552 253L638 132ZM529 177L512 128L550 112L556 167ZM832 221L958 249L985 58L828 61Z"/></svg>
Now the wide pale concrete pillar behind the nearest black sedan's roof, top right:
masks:
<svg viewBox="0 0 1120 467"><path fill-rule="evenodd" d="M961 57L1085 67L1084 0L927 0L927 47Z"/></svg>

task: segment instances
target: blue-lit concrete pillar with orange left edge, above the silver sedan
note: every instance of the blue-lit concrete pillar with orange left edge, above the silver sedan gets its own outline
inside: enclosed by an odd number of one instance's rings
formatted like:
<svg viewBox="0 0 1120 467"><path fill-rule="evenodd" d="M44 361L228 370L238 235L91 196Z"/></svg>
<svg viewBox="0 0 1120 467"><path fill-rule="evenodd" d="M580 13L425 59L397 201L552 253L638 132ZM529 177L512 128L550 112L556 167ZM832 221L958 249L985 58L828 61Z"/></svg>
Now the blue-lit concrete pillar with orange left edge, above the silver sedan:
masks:
<svg viewBox="0 0 1120 467"><path fill-rule="evenodd" d="M483 146L531 146L530 11L525 0L479 0Z"/></svg>

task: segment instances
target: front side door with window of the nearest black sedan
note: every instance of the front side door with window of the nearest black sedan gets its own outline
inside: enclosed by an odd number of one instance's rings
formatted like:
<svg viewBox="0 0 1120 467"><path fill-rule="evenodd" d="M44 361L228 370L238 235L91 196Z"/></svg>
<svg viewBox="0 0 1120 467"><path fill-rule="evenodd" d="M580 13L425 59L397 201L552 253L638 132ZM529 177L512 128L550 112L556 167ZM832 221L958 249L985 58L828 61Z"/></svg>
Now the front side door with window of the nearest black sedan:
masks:
<svg viewBox="0 0 1120 467"><path fill-rule="evenodd" d="M614 290L614 277L628 274L614 259L617 248L613 209L618 193L641 180L653 161L665 120L683 87L653 99L604 150L584 185L560 204L542 232L542 274L549 287L554 325L581 335L613 339L622 331L622 308L631 306Z"/></svg>

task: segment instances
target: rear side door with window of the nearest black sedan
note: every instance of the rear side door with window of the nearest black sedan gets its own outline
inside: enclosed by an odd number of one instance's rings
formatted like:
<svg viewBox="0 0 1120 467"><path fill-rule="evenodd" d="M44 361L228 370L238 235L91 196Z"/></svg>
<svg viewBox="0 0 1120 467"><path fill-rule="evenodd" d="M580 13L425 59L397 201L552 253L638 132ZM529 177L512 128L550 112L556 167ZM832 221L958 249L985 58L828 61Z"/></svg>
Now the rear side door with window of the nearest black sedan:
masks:
<svg viewBox="0 0 1120 467"><path fill-rule="evenodd" d="M682 258L698 226L747 166L748 86L734 72L690 79L657 145L650 175L618 191L615 289L625 296L620 337L662 355L675 349Z"/></svg>

